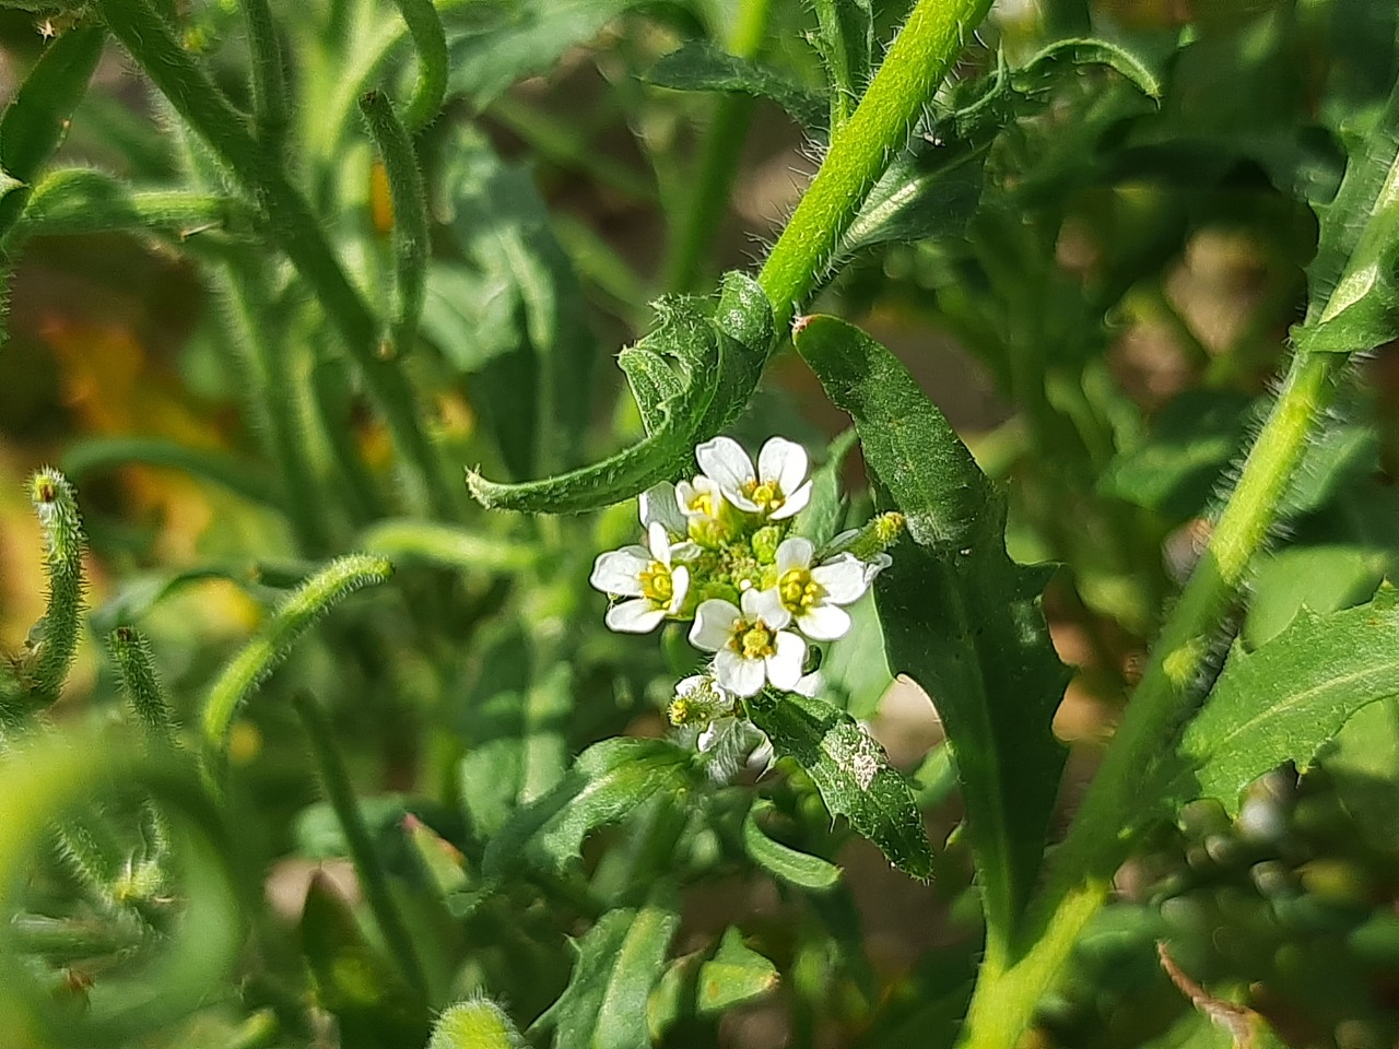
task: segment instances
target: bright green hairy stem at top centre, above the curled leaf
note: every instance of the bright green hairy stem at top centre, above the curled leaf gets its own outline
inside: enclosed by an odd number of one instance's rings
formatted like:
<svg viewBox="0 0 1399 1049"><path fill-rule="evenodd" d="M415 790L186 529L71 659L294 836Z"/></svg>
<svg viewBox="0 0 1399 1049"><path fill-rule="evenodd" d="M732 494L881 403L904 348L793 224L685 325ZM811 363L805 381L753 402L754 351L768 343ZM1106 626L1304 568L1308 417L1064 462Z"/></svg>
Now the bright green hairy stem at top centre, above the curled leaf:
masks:
<svg viewBox="0 0 1399 1049"><path fill-rule="evenodd" d="M918 0L851 119L832 136L821 169L772 248L758 284L786 327L831 264L865 194L904 147L909 129L951 70L990 0Z"/></svg>

